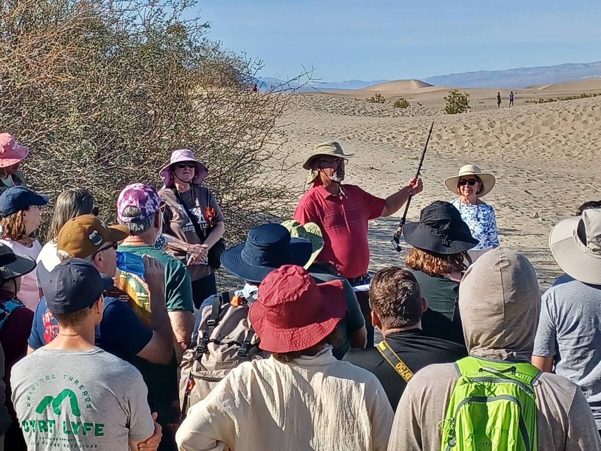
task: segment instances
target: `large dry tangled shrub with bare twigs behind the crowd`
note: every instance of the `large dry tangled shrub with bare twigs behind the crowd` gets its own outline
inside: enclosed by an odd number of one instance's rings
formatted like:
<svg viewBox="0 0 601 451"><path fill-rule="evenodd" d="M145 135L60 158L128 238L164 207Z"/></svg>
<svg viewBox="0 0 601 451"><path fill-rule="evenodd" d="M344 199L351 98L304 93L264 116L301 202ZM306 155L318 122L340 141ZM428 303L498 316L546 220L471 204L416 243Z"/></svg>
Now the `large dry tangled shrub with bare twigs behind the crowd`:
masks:
<svg viewBox="0 0 601 451"><path fill-rule="evenodd" d="M209 168L230 243L290 212L276 124L290 85L252 92L261 61L209 40L208 23L183 18L192 5L0 2L0 130L30 147L34 189L90 189L111 220L123 186L160 188L157 171L185 147Z"/></svg>

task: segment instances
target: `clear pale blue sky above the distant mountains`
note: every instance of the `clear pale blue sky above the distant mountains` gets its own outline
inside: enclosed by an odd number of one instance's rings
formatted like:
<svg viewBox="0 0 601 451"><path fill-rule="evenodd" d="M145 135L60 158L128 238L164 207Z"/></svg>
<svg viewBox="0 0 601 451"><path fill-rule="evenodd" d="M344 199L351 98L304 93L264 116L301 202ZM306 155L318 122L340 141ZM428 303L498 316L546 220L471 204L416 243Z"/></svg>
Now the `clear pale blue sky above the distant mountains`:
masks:
<svg viewBox="0 0 601 451"><path fill-rule="evenodd" d="M199 1L210 38L263 76L426 78L601 60L600 0Z"/></svg>

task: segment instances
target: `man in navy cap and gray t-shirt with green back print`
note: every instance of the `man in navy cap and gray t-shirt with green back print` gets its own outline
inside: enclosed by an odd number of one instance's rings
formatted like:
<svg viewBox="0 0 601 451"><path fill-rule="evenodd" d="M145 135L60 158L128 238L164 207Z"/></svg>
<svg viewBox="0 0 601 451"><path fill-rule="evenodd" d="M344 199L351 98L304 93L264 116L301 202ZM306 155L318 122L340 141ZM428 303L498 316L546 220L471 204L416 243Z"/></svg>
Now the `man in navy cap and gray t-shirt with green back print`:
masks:
<svg viewBox="0 0 601 451"><path fill-rule="evenodd" d="M44 430L47 443L117 450L141 443L156 449L160 442L140 372L94 345L102 293L111 286L110 277L82 259L60 263L44 283L59 333L13 366L11 387L20 425L61 425ZM23 426L22 432L28 449L41 449L39 431Z"/></svg>

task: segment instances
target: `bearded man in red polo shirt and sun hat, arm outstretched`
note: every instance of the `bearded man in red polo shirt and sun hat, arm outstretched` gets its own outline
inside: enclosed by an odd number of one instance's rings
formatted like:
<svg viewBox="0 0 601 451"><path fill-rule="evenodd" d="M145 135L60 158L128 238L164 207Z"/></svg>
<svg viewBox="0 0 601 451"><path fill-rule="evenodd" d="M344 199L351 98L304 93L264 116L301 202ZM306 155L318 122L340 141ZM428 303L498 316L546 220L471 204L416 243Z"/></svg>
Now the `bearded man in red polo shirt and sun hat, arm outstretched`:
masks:
<svg viewBox="0 0 601 451"><path fill-rule="evenodd" d="M385 199L363 191L359 186L343 185L344 163L353 154L346 154L335 141L317 144L303 167L310 171L307 183L313 187L305 192L294 210L294 219L306 224L315 222L322 229L323 250L317 260L331 262L350 284L368 283L367 268L370 248L367 242L367 221L396 213L410 195L421 192L421 180ZM371 324L368 293L358 292L357 299ZM373 345L373 327L368 330L368 346Z"/></svg>

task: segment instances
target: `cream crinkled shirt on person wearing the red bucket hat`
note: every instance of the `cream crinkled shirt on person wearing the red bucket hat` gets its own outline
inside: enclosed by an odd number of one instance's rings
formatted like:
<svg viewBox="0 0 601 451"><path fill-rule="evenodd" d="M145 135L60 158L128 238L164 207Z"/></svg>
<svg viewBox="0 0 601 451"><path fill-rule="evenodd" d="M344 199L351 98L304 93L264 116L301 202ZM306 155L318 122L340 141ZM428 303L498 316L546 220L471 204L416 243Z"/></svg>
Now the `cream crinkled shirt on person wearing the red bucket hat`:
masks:
<svg viewBox="0 0 601 451"><path fill-rule="evenodd" d="M376 376L328 346L292 363L241 364L191 408L175 440L181 451L377 451L392 415Z"/></svg>

